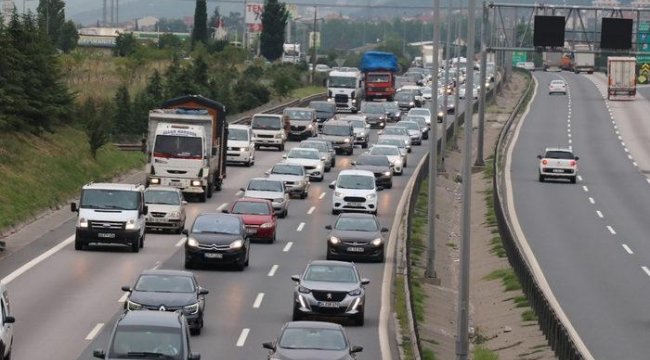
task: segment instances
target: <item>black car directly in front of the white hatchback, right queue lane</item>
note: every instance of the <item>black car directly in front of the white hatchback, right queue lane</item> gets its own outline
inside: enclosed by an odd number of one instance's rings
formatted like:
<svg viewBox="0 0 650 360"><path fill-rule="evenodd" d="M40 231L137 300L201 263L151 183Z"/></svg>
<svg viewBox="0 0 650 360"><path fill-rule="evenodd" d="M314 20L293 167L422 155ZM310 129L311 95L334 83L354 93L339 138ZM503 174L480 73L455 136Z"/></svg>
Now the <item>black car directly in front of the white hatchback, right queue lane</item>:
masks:
<svg viewBox="0 0 650 360"><path fill-rule="evenodd" d="M327 236L327 259L370 259L384 261L384 233L372 214L342 213Z"/></svg>

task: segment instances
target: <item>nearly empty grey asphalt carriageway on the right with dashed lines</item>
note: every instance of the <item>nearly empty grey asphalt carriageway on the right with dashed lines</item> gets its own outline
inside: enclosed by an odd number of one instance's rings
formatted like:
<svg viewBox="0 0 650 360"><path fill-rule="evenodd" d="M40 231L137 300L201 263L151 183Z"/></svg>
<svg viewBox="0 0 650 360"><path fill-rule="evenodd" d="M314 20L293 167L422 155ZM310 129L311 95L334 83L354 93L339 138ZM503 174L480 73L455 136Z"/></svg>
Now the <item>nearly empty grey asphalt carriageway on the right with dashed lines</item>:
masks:
<svg viewBox="0 0 650 360"><path fill-rule="evenodd" d="M526 241L595 359L647 359L650 185L617 123L640 124L649 109L636 118L610 115L608 107L643 106L644 99L610 106L591 75L534 75L539 88L510 169ZM569 96L548 95L556 78L568 82ZM580 156L577 184L538 182L536 155L557 145L571 145Z"/></svg>

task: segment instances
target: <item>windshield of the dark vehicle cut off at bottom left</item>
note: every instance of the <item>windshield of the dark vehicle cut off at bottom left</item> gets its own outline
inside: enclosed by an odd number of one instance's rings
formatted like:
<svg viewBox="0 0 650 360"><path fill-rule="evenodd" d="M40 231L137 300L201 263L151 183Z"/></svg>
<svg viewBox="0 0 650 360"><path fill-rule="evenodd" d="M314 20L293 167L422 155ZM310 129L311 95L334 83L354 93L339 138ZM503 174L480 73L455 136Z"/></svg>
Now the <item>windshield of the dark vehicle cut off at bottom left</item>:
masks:
<svg viewBox="0 0 650 360"><path fill-rule="evenodd" d="M183 332L160 326L118 325L107 358L183 359Z"/></svg>

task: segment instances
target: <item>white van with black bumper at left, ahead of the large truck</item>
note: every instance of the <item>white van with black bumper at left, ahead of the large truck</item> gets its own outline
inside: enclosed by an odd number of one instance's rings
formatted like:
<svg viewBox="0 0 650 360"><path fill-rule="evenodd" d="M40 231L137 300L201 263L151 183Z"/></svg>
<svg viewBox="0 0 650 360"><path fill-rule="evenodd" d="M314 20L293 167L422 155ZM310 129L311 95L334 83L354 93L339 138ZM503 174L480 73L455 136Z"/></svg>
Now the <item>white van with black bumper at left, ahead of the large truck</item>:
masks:
<svg viewBox="0 0 650 360"><path fill-rule="evenodd" d="M90 243L118 243L138 252L144 246L146 215L144 186L133 184L90 183L81 188L75 231L75 250Z"/></svg>

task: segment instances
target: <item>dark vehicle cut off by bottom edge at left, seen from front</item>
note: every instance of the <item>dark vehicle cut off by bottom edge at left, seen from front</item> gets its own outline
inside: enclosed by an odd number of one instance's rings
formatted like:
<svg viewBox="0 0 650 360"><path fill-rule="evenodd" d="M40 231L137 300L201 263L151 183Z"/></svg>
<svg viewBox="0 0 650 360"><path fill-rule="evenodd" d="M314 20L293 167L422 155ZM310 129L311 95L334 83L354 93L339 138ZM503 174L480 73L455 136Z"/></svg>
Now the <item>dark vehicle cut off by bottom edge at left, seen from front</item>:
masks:
<svg viewBox="0 0 650 360"><path fill-rule="evenodd" d="M96 349L98 359L200 360L190 349L185 315L168 311L127 311L115 322L107 350Z"/></svg>

